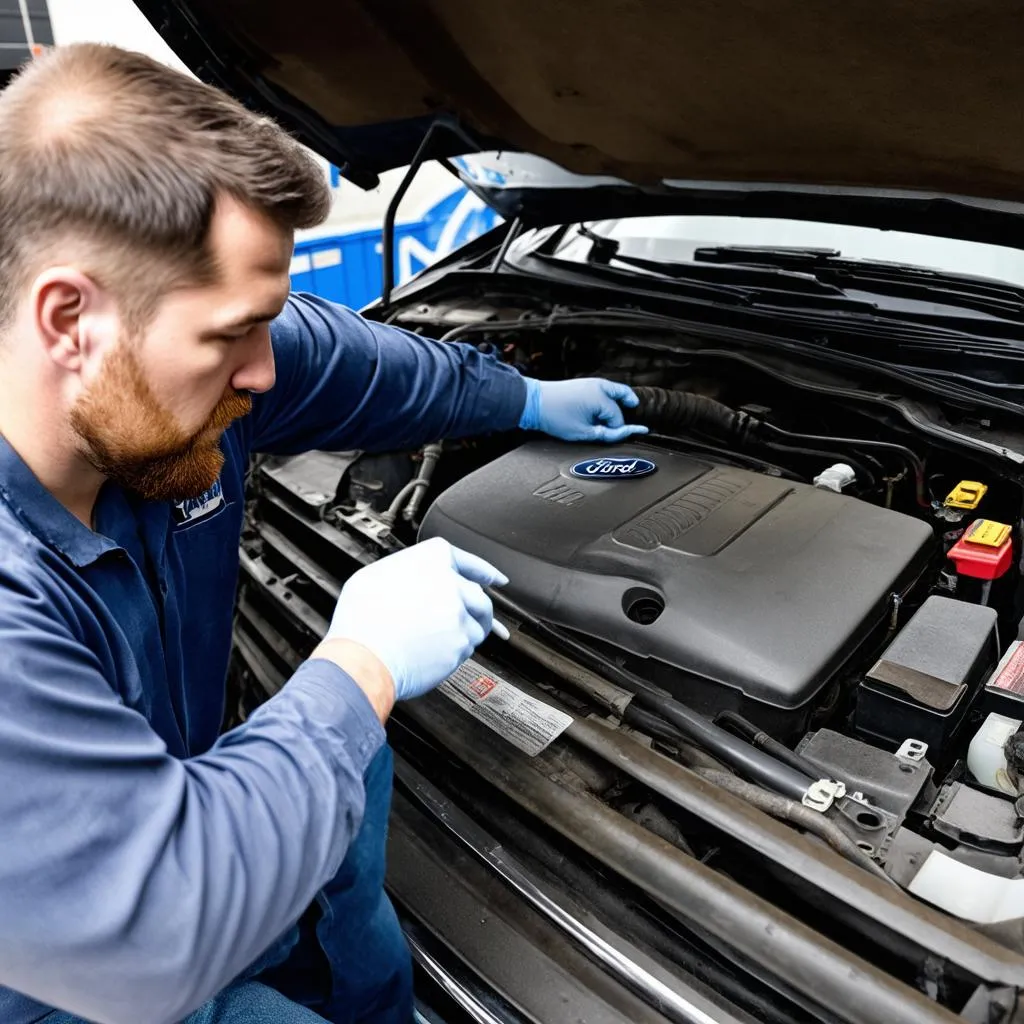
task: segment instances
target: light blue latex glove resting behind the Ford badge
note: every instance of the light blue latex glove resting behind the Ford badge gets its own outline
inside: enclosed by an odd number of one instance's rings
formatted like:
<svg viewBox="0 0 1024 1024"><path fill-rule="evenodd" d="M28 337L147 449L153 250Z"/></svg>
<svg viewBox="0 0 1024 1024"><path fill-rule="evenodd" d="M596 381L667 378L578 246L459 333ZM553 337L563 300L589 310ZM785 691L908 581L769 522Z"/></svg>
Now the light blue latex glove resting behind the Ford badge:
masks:
<svg viewBox="0 0 1024 1024"><path fill-rule="evenodd" d="M563 441L622 441L647 433L639 424L626 425L622 406L635 409L639 399L633 388L599 377L568 381L526 382L526 404L519 426L543 430Z"/></svg>

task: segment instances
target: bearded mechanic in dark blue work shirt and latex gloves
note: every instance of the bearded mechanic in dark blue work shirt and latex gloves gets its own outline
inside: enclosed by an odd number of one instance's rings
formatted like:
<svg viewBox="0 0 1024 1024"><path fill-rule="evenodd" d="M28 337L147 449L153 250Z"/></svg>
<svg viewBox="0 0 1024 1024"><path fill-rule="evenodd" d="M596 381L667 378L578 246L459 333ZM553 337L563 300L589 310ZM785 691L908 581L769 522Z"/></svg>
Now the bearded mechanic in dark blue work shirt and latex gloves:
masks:
<svg viewBox="0 0 1024 1024"><path fill-rule="evenodd" d="M4 1024L413 1018L383 724L505 581L441 541L360 570L218 735L250 453L642 428L623 385L289 295L329 207L284 131L140 54L57 48L0 94Z"/></svg>

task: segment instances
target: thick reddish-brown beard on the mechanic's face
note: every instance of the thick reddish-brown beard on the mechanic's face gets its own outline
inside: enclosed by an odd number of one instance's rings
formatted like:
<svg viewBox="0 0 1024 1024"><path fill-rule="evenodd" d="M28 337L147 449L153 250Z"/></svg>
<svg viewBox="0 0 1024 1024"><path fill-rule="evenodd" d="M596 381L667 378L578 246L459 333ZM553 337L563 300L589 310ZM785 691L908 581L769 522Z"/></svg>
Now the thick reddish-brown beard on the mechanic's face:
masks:
<svg viewBox="0 0 1024 1024"><path fill-rule="evenodd" d="M179 502L213 486L224 465L220 435L251 410L248 393L228 389L206 423L186 433L157 400L123 339L76 402L71 426L79 453L108 479L146 501Z"/></svg>

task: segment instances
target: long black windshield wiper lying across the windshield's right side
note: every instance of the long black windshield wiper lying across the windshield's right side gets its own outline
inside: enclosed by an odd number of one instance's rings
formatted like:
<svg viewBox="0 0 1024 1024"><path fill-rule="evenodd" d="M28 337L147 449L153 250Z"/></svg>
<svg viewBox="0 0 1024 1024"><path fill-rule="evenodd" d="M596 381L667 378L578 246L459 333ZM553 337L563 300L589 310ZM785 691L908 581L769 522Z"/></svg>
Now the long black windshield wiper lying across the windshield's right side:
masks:
<svg viewBox="0 0 1024 1024"><path fill-rule="evenodd" d="M836 249L710 246L697 249L693 258L703 264L802 272L835 288L854 287L895 298L971 309L1000 319L1024 319L1024 288L903 263L847 259Z"/></svg>

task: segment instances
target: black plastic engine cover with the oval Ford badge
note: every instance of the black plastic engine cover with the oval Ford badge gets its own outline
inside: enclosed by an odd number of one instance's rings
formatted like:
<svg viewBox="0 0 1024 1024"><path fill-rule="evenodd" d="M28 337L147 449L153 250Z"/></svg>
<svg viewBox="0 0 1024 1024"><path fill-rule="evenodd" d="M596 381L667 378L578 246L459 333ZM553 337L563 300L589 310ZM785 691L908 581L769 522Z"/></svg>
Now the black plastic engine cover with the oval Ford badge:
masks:
<svg viewBox="0 0 1024 1024"><path fill-rule="evenodd" d="M571 472L634 457L654 470ZM805 484L648 444L557 441L450 487L420 536L493 562L546 621L662 663L632 667L688 703L778 731L800 726L932 542L916 519Z"/></svg>

